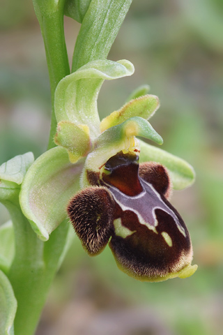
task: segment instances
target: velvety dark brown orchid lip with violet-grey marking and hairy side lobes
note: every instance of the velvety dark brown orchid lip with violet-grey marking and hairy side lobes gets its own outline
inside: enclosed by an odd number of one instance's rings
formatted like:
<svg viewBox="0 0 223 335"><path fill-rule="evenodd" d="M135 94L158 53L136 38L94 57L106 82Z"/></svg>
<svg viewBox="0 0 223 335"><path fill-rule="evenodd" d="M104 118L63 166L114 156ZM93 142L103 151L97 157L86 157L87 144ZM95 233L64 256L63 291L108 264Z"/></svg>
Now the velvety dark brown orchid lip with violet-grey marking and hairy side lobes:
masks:
<svg viewBox="0 0 223 335"><path fill-rule="evenodd" d="M86 171L88 188L68 204L68 215L89 255L107 243L118 267L141 281L191 276L190 234L169 203L171 181L159 163L139 164L139 150L119 151Z"/></svg>

